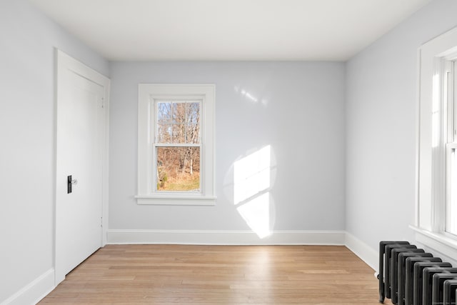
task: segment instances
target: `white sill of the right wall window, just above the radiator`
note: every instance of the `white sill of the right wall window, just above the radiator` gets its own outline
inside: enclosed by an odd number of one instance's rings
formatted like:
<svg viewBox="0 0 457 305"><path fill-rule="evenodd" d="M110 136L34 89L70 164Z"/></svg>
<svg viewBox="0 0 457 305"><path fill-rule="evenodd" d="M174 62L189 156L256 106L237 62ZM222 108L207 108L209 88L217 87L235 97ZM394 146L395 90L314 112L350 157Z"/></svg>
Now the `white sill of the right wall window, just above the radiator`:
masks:
<svg viewBox="0 0 457 305"><path fill-rule="evenodd" d="M457 240L444 234L433 233L417 226L410 226L416 232L416 241L440 252L452 259L457 259Z"/></svg>

